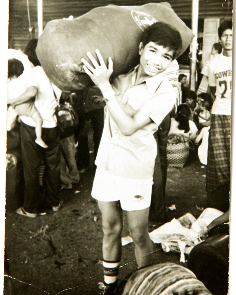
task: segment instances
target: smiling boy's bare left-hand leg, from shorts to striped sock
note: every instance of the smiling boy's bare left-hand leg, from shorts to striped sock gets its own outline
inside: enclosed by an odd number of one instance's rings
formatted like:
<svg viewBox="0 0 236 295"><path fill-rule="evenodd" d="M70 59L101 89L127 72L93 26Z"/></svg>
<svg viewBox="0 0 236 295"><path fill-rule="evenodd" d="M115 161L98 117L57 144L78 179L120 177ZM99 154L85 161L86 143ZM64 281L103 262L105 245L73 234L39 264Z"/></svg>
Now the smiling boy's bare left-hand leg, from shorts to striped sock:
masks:
<svg viewBox="0 0 236 295"><path fill-rule="evenodd" d="M121 259L122 209L119 201L98 201L102 214L103 229L103 259L119 261Z"/></svg>

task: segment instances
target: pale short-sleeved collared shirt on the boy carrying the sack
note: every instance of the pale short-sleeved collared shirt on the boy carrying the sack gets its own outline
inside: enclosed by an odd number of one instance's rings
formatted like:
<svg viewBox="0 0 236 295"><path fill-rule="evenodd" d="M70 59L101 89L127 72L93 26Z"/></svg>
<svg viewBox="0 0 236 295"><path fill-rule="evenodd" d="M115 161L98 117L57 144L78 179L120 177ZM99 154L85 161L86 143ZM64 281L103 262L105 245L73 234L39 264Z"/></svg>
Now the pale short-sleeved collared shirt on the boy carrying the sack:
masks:
<svg viewBox="0 0 236 295"><path fill-rule="evenodd" d="M170 82L163 79L163 73L135 85L137 67L126 75L118 76L113 88L123 108L129 104L136 112L147 114L153 122L125 136L108 112L95 163L114 175L148 179L153 176L157 155L153 133L173 108L176 93Z"/></svg>

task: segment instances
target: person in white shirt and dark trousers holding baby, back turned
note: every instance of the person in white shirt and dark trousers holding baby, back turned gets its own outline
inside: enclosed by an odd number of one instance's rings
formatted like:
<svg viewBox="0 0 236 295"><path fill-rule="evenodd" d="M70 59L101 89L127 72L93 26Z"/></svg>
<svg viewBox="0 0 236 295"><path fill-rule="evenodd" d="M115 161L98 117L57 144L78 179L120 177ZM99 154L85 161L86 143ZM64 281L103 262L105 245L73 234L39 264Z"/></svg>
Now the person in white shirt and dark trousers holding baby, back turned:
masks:
<svg viewBox="0 0 236 295"><path fill-rule="evenodd" d="M61 91L54 87L56 96ZM53 85L41 66L32 69L32 75L26 84L26 91L11 101L15 106L28 101L35 96L35 106L42 119L42 138L48 148L42 148L35 143L35 121L31 117L20 116L21 119L21 153L24 171L24 204L16 213L25 217L34 218L40 212L44 201L53 211L58 211L62 201L57 194L60 188L60 148L59 130L55 117L56 99ZM45 195L40 196L38 169L40 163L45 163Z"/></svg>

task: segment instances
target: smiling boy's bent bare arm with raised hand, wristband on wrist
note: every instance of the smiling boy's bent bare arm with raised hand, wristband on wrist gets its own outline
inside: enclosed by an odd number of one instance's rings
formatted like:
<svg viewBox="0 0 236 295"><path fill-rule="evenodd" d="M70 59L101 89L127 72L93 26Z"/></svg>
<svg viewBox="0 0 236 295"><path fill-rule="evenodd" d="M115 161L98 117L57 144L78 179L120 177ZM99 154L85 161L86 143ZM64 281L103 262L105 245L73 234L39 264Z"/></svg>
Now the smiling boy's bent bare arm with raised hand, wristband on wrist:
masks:
<svg viewBox="0 0 236 295"><path fill-rule="evenodd" d="M115 97L115 92L109 82L109 78L113 72L113 63L111 58L109 58L108 68L106 67L101 53L96 50L100 65L97 63L95 58L87 53L94 67L92 67L86 60L81 59L84 64L85 72L90 76L96 86L98 86L105 98L107 100L106 105L109 109L113 120L116 122L119 130L123 135L132 135L137 130L151 123L150 117L144 112L139 111L133 117L130 117L121 107L119 102Z"/></svg>

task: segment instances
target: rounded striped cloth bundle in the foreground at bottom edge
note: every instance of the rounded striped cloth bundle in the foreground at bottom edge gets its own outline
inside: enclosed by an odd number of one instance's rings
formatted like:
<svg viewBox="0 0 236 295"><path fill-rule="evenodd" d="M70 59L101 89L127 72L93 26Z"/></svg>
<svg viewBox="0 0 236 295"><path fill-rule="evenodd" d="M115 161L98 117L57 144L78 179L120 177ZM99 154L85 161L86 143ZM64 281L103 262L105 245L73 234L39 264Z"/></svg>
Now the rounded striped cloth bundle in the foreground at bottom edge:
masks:
<svg viewBox="0 0 236 295"><path fill-rule="evenodd" d="M212 294L189 269L175 263L159 263L133 273L122 295L173 295L193 291L196 295Z"/></svg>

